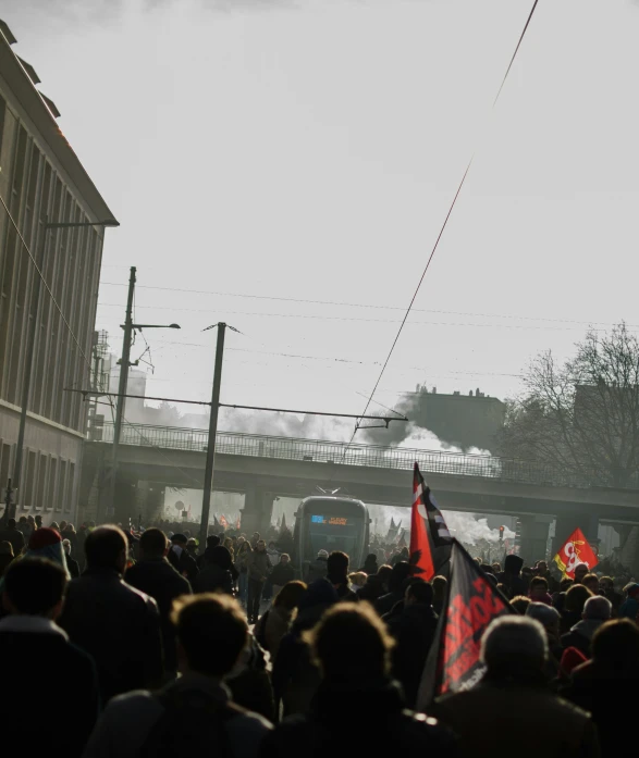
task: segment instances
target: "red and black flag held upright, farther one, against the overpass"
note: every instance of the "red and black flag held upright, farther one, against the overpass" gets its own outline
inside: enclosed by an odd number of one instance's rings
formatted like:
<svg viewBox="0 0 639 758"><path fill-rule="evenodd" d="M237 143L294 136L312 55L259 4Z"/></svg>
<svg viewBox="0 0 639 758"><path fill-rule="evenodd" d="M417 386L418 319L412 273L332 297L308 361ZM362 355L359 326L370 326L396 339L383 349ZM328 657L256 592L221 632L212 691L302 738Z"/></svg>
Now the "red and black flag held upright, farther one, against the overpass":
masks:
<svg viewBox="0 0 639 758"><path fill-rule="evenodd" d="M453 537L419 467L413 472L410 512L410 562L419 576L429 582L448 562Z"/></svg>

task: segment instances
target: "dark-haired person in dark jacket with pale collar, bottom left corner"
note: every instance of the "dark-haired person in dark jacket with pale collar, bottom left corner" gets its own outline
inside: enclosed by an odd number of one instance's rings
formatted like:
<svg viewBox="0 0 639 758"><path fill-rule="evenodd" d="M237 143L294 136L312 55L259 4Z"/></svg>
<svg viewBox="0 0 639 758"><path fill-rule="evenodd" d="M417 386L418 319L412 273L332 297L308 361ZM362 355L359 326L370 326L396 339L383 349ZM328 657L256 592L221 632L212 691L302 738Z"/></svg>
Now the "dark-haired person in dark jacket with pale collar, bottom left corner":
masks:
<svg viewBox="0 0 639 758"><path fill-rule="evenodd" d="M32 754L38 741L59 735L60 755L79 758L98 718L96 664L56 623L65 585L62 567L41 558L15 561L4 575L9 616L0 621L0 649L8 756ZM70 717L71 728L62 735ZM54 750L54 742L49 747Z"/></svg>

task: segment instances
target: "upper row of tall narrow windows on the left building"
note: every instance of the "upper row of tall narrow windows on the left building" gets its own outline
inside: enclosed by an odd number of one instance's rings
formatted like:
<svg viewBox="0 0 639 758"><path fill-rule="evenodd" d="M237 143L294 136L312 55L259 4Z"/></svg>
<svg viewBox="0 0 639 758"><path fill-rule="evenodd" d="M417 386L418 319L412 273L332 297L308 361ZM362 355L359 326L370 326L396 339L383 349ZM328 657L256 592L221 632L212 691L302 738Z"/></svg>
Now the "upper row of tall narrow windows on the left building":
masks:
<svg viewBox="0 0 639 758"><path fill-rule="evenodd" d="M38 298L29 410L84 432L82 397L64 388L88 386L101 236L91 226L46 228L47 219L88 219L1 96L0 192L32 256L41 262L47 284ZM25 245L0 208L0 397L17 406L28 325L36 318L36 276Z"/></svg>

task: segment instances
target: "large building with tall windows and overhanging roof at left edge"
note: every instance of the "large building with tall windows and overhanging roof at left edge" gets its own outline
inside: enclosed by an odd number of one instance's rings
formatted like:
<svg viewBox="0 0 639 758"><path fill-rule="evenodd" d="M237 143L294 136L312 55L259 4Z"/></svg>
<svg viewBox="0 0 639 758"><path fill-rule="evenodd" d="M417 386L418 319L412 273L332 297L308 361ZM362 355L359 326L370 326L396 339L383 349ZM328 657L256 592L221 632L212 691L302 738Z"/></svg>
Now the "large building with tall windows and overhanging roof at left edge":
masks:
<svg viewBox="0 0 639 758"><path fill-rule="evenodd" d="M16 515L39 512L50 523L76 513L87 403L64 390L89 386L103 241L103 226L50 224L113 214L14 42L0 22L0 487L15 475L28 325L37 319ZM39 308L34 259L44 261Z"/></svg>

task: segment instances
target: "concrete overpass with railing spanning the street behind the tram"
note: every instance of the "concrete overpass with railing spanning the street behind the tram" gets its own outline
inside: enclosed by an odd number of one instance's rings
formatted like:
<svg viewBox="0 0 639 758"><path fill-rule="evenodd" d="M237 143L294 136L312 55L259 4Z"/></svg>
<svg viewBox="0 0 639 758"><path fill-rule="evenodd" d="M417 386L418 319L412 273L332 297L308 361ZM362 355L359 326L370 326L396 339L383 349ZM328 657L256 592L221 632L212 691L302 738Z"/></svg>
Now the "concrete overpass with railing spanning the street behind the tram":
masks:
<svg viewBox="0 0 639 758"><path fill-rule="evenodd" d="M120 515L126 518L139 509L140 482L152 485L156 501L167 486L200 488L207 434L206 430L125 426L118 482ZM108 461L111 439L112 425L106 425L102 440L87 443L86 461L89 469L93 462L94 472ZM245 493L243 529L263 529L275 496L302 498L314 494L317 485L341 487L369 504L408 506L416 460L442 508L517 515L523 549L526 544L539 550L543 543L541 554L545 552L549 519L543 517L557 519L557 540L577 525L594 539L600 521L639 524L637 477L628 488L618 489L606 486L605 476L594 472L575 474L531 461L446 451L220 433L213 486ZM84 497L88 498L86 489Z"/></svg>

